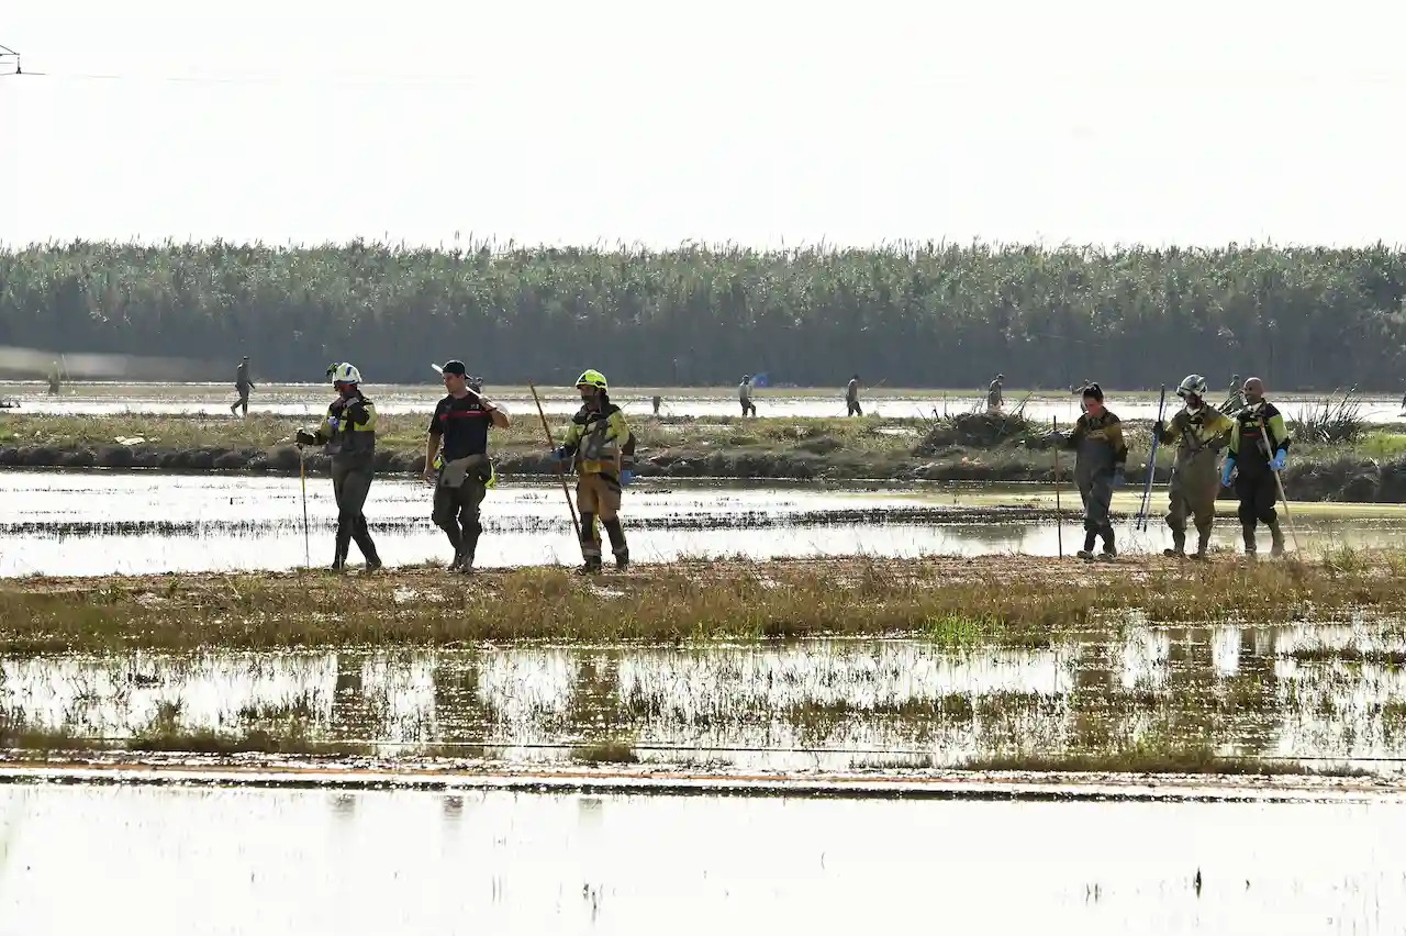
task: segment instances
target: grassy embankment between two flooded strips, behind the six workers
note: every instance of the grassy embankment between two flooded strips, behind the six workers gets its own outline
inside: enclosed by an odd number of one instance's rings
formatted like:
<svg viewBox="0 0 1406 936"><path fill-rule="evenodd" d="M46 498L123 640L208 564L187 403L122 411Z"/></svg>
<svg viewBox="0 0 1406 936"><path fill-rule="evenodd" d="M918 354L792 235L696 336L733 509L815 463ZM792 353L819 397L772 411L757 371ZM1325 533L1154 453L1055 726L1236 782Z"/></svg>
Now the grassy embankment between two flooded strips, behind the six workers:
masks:
<svg viewBox="0 0 1406 936"><path fill-rule="evenodd" d="M149 468L297 474L292 434L307 419L250 416L35 416L0 415L0 467ZM564 424L564 419L554 424ZM740 419L637 417L641 478L891 479L935 482L1040 482L1053 479L1045 429L960 419ZM1146 424L1129 423L1128 483L1142 485L1150 451ZM117 441L117 440L127 441ZM141 441L131 441L141 440ZM422 416L384 416L378 469L419 474ZM548 475L540 423L519 416L495 434L499 472ZM1167 482L1171 453L1159 451L1156 481ZM1066 481L1073 460L1062 457ZM308 469L326 471L321 451ZM1285 483L1295 500L1406 502L1406 434L1368 433L1350 446L1301 444ZM1230 496L1223 492L1223 496Z"/></svg>

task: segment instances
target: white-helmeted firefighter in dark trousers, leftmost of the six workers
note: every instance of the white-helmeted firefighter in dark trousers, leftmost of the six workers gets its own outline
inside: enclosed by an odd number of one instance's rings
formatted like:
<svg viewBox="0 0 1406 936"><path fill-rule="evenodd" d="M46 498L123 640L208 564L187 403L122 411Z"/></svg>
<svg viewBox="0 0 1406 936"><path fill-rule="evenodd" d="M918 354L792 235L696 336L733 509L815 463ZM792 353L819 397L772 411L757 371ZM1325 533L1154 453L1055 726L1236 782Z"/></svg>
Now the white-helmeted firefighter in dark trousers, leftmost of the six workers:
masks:
<svg viewBox="0 0 1406 936"><path fill-rule="evenodd" d="M352 541L366 558L366 571L381 568L363 507L375 476L375 403L361 395L361 372L352 364L328 367L337 396L323 420L297 433L298 446L325 446L332 458L332 493L337 502L336 558L332 571L346 568Z"/></svg>

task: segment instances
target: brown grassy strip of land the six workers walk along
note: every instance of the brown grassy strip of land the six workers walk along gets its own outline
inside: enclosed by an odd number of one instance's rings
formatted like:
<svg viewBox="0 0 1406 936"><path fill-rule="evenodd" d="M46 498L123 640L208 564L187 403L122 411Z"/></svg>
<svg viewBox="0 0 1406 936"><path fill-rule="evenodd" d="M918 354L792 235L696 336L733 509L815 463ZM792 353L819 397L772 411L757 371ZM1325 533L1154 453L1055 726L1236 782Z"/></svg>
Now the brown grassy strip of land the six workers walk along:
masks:
<svg viewBox="0 0 1406 936"><path fill-rule="evenodd" d="M1047 646L1159 621L1292 620L1312 609L1395 611L1406 552L1312 562L1161 558L1091 569L1070 559L827 559L643 565L605 579L564 569L31 578L0 587L0 651L463 645L920 635L943 645ZM1243 600L1275 594L1274 602Z"/></svg>

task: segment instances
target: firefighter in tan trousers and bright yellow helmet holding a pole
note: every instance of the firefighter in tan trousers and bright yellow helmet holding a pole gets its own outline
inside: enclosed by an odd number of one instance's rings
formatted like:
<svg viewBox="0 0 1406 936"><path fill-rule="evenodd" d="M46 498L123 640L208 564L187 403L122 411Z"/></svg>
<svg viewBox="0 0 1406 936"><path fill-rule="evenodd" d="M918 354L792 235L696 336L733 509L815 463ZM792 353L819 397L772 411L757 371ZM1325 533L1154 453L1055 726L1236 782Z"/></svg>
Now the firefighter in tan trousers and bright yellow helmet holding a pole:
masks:
<svg viewBox="0 0 1406 936"><path fill-rule="evenodd" d="M630 426L620 408L610 402L605 374L586 371L576 381L581 410L571 417L567 438L551 453L553 461L571 462L576 471L576 509L581 510L582 572L600 571L600 533L596 519L610 537L616 566L630 564L630 547L620 526L620 489L633 479L626 448L633 448Z"/></svg>

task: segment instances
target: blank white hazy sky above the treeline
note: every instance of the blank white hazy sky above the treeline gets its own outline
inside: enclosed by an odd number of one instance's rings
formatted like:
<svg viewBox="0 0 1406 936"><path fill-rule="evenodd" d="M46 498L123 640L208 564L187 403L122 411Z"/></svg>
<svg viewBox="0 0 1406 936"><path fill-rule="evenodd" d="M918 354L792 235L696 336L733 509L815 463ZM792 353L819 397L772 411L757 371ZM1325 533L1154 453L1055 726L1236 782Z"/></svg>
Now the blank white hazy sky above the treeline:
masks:
<svg viewBox="0 0 1406 936"><path fill-rule="evenodd" d="M1403 27L1346 0L4 0L32 74L0 77L0 240L1406 242Z"/></svg>

